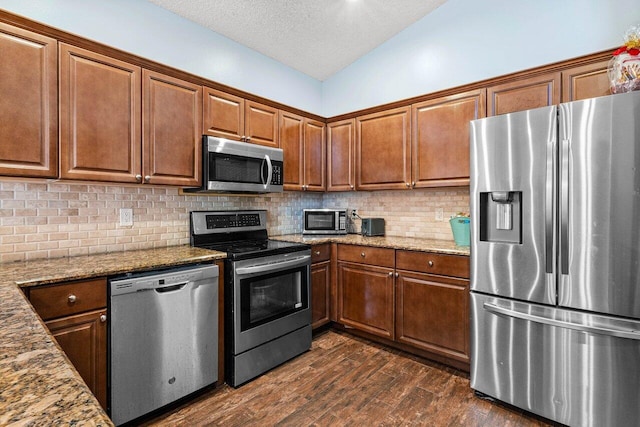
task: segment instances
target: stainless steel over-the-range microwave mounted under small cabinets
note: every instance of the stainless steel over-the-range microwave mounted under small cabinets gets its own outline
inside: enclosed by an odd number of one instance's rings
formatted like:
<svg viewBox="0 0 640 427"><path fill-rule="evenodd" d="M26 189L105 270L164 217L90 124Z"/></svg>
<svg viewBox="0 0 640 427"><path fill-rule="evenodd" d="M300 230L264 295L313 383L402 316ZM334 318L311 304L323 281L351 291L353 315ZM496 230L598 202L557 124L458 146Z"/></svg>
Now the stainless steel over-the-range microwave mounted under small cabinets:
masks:
<svg viewBox="0 0 640 427"><path fill-rule="evenodd" d="M284 156L280 148L202 137L202 187L187 192L281 193Z"/></svg>

